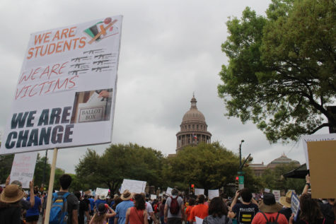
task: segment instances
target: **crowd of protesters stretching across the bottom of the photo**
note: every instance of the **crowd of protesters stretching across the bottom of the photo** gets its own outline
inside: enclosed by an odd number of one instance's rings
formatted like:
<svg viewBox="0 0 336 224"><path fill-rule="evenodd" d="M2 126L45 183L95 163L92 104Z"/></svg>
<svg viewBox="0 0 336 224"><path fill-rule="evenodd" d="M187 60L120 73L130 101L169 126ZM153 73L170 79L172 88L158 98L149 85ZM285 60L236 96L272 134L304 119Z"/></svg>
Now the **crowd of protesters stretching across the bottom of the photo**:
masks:
<svg viewBox="0 0 336 224"><path fill-rule="evenodd" d="M68 195L71 176L62 175L61 188L57 195ZM80 224L335 224L335 199L312 199L308 192L310 178L299 195L300 210L294 220L291 210L291 194L275 200L274 194L263 193L256 201L248 189L236 191L233 199L217 196L207 199L198 196L183 196L174 188L170 196L155 200L146 199L146 195L132 194L125 190L122 194L90 196L75 191L66 197L66 223ZM21 183L13 181L0 195L0 223L36 224L40 216L45 218L47 196L40 194L38 187L30 182L29 195L21 189ZM1 191L1 189L0 189ZM53 194L54 197L54 194Z"/></svg>

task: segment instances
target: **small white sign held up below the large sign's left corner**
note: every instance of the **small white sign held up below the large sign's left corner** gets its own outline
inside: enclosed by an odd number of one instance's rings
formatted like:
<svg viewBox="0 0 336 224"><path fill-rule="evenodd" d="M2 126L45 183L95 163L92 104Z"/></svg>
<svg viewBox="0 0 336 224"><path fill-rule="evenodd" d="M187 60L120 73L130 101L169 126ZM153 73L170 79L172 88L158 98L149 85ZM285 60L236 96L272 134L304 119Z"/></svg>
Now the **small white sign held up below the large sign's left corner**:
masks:
<svg viewBox="0 0 336 224"><path fill-rule="evenodd" d="M36 158L37 152L16 154L11 167L11 182L18 180L22 188L29 188L29 182L34 177Z"/></svg>

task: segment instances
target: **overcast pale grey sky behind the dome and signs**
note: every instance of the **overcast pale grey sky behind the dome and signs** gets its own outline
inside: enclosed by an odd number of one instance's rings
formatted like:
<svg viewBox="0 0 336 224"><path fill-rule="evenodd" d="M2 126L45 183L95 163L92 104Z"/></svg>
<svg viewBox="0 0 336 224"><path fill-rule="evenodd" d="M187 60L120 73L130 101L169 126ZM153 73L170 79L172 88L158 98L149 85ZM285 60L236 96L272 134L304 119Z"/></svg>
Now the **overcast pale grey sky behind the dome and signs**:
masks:
<svg viewBox="0 0 336 224"><path fill-rule="evenodd" d="M301 142L268 143L254 124L224 116L216 86L227 64L221 43L228 17L246 6L265 15L270 0L212 1L0 1L0 131L4 131L30 33L123 15L117 101L112 143L137 143L168 155L195 92L212 141L253 163L270 163L285 153L305 163ZM319 134L327 134L328 129ZM108 145L90 146L102 153ZM86 147L59 150L57 167L73 172ZM44 155L44 151L41 151ZM49 151L50 161L52 151ZM112 163L112 161L111 161Z"/></svg>

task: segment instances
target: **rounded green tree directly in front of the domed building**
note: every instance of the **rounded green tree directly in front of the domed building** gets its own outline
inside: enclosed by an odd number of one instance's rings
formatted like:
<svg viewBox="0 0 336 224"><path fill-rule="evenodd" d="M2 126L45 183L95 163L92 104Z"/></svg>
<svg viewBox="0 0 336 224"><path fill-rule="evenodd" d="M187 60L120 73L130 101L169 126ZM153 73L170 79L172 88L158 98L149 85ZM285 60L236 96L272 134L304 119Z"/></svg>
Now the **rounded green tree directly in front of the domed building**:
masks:
<svg viewBox="0 0 336 224"><path fill-rule="evenodd" d="M166 178L170 180L170 186L185 190L190 184L195 184L196 188L219 189L234 183L238 170L238 155L218 142L199 143L197 146L187 146L175 157L168 158ZM257 183L250 168L244 168L244 172L245 187L255 191Z"/></svg>

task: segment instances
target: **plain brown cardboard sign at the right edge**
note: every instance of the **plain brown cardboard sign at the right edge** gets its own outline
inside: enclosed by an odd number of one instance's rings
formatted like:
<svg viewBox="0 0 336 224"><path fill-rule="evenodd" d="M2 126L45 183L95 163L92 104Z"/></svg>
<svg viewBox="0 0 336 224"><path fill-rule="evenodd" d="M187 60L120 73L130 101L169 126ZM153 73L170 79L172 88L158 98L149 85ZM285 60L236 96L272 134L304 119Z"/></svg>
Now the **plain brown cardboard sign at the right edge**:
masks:
<svg viewBox="0 0 336 224"><path fill-rule="evenodd" d="M336 141L311 141L307 147L311 165L311 197L335 199Z"/></svg>

